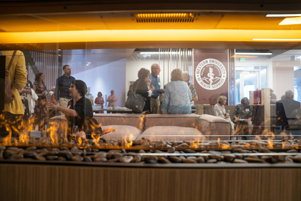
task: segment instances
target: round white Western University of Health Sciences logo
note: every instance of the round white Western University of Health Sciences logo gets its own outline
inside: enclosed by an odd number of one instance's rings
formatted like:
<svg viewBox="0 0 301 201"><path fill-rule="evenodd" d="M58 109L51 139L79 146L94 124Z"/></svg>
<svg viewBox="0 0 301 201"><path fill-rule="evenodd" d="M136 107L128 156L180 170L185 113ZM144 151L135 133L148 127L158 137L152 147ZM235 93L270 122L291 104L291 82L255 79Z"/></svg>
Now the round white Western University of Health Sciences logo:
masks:
<svg viewBox="0 0 301 201"><path fill-rule="evenodd" d="M195 70L197 83L207 90L216 90L221 87L226 80L226 68L216 59L204 59Z"/></svg>

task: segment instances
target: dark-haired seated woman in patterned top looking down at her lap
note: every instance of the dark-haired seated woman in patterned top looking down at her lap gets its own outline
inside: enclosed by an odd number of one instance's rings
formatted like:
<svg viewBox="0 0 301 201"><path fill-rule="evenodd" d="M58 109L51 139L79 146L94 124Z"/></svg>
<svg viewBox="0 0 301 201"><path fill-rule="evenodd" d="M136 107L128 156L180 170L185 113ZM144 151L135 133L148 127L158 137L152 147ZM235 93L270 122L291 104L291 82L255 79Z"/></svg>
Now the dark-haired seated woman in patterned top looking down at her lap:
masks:
<svg viewBox="0 0 301 201"><path fill-rule="evenodd" d="M241 104L236 105L232 116L232 120L237 126L235 132L242 135L249 135L253 130L253 107L249 105L250 101L247 97L242 98L240 102ZM243 139L249 140L250 138L245 136Z"/></svg>

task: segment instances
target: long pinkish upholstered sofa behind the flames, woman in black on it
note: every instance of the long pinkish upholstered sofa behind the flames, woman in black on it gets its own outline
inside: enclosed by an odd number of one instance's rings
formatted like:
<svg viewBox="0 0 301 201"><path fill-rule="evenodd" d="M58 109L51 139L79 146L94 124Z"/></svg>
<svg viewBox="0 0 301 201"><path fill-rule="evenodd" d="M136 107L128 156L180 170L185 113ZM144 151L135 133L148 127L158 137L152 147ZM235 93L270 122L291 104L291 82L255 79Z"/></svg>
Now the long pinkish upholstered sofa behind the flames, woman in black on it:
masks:
<svg viewBox="0 0 301 201"><path fill-rule="evenodd" d="M94 114L94 118L103 130L116 129L102 135L106 140L230 140L231 133L227 120L212 115ZM67 136L64 115L49 119L47 134Z"/></svg>

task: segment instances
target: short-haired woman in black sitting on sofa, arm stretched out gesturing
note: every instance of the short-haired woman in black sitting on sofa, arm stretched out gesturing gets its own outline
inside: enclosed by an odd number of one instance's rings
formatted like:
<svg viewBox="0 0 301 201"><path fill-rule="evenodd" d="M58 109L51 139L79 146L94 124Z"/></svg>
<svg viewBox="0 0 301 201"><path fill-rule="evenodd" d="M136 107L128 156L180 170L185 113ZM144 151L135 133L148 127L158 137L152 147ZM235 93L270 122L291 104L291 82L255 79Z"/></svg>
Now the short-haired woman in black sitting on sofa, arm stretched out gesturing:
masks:
<svg viewBox="0 0 301 201"><path fill-rule="evenodd" d="M91 134L102 133L100 125L93 118L92 105L89 99L85 98L87 85L82 80L73 80L69 88L69 95L73 98L68 102L68 107L63 108L48 102L48 110L58 110L65 114L68 120L68 133L71 133L73 125L79 128L79 137L92 139Z"/></svg>

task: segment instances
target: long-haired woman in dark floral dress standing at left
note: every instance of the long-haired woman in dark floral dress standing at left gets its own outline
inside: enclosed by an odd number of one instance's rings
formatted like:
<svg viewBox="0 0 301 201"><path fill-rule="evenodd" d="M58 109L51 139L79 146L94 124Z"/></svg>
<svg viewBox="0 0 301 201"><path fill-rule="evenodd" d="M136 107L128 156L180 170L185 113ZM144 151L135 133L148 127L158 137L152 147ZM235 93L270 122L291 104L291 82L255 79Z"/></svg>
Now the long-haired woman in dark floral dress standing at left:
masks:
<svg viewBox="0 0 301 201"><path fill-rule="evenodd" d="M41 131L41 137L46 137L45 124L46 124L46 105L47 105L47 88L44 83L44 74L37 73L35 77L35 82L33 83L33 90L35 90L38 95L38 100L36 100L36 107L34 109L35 124L39 125L39 131Z"/></svg>

